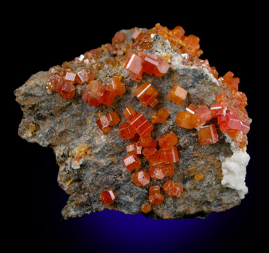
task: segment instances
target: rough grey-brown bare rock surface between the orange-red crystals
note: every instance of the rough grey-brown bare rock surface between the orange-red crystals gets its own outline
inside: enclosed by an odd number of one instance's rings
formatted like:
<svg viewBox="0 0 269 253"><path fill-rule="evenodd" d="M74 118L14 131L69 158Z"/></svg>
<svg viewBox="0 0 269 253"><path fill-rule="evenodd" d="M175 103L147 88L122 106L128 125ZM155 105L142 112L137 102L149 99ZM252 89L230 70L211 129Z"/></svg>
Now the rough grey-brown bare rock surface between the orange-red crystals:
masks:
<svg viewBox="0 0 269 253"><path fill-rule="evenodd" d="M123 30L127 41L131 40L131 31ZM182 64L180 54L174 52L169 42L162 36L152 38L153 51L158 55L169 52L171 64L169 72L160 78L143 75L142 82L153 83L158 90L159 104L151 109L145 107L133 96L133 90L139 83L129 78L129 72L122 63L111 67L107 58L113 58L109 52L103 52L98 61L96 79L103 83L111 80L114 74L122 76L126 93L117 96L111 106L90 107L82 99L87 85L76 86L76 96L63 98L55 92L47 92L46 85L50 72L39 72L15 91L17 102L23 110L23 119L19 126L19 135L28 142L37 142L41 146L53 148L59 166L58 184L70 195L62 214L65 219L80 217L83 214L100 211L104 208L119 210L126 214L141 212L141 206L148 201L148 188L153 184L162 186L165 179L153 181L144 187L138 187L131 181L131 172L122 166L121 159L126 153L128 140L122 140L118 126L104 135L96 125L97 113L116 111L121 122L125 107L131 106L141 111L147 118L160 107L169 108L170 117L164 124L155 124L152 136L158 140L161 135L173 131L178 136L176 146L181 151L180 162L175 164L174 181L184 191L180 197L169 197L164 192L164 201L159 206L152 205L153 212L144 214L153 219L182 219L186 217L205 217L210 212L222 212L240 203L236 190L222 185L222 162L219 157L233 155L225 135L218 131L219 142L201 146L195 129L183 129L175 124L178 111L183 111L189 103L214 104L217 94L222 90L212 74L204 67ZM79 66L72 65L74 69ZM166 99L171 87L179 84L188 90L188 96L180 106ZM216 120L213 119L213 122ZM216 124L217 125L217 124ZM76 155L82 158L74 161ZM149 163L141 158L142 169L148 170ZM136 171L136 170L135 170ZM204 179L195 180L195 173L203 173ZM117 199L111 206L103 206L100 192L104 188L113 188Z"/></svg>

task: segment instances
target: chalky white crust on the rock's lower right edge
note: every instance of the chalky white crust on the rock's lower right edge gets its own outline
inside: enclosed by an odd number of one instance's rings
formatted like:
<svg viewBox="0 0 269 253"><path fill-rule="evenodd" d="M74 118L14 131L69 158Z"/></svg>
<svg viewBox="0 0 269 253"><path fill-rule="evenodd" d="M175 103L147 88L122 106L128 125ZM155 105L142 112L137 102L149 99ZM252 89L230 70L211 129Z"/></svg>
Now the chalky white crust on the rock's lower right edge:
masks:
<svg viewBox="0 0 269 253"><path fill-rule="evenodd" d="M245 183L246 166L250 156L246 153L246 148L242 151L235 146L230 137L226 137L226 142L231 144L233 155L231 157L220 157L222 161L222 185L237 190L240 199L244 199L248 193L248 187Z"/></svg>

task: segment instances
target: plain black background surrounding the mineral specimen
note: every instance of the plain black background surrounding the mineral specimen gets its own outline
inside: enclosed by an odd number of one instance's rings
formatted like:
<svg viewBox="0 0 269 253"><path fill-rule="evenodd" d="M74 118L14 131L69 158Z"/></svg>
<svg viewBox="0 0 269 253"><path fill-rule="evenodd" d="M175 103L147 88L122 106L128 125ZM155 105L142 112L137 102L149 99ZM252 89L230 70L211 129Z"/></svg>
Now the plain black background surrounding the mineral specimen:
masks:
<svg viewBox="0 0 269 253"><path fill-rule="evenodd" d="M188 7L166 3L159 8L143 9L143 5L120 5L120 3L101 3L85 6L83 3L63 3L61 8L46 3L34 6L32 10L22 10L9 17L8 27L2 38L6 42L3 61L8 61L6 78L3 83L8 87L8 107L4 104L3 127L10 131L3 159L8 159L8 176L3 181L8 183L8 202L6 214L9 218L9 230L6 234L14 243L10 248L19 246L28 252L133 252L130 248L120 248L120 242L111 247L100 241L90 241L89 248L76 244L76 232L72 224L61 223L61 209L65 206L67 195L56 182L58 166L52 150L42 148L38 144L30 144L17 135L17 128L22 118L19 104L15 102L14 89L23 85L32 74L41 70L47 71L63 61L71 61L102 44L110 43L115 32L133 27L152 28L155 23L173 29L181 25L186 34L200 37L200 45L204 51L201 58L207 58L211 65L217 67L220 76L231 71L241 80L239 90L248 96L248 113L253 122L248 133L248 165L246 184L249 193L240 206L228 210L233 217L223 230L215 231L219 238L212 241L200 241L195 249L200 252L237 252L265 245L268 235L266 203L268 202L268 164L266 161L266 122L268 115L264 99L266 98L267 73L262 66L268 46L264 36L263 6L245 5L235 8L225 4L217 7L209 5L211 10L202 10L200 5L190 4ZM25 7L25 6L23 6ZM17 6L19 8L19 6ZM104 10L105 8L105 10ZM194 11L195 10L195 11ZM256 16L258 14L258 16ZM265 19L264 19L265 20ZM10 23L14 21L14 23ZM6 50L8 49L8 50ZM9 73L10 71L10 73ZM221 215L221 214L219 214ZM8 218L7 218L8 219ZM83 219L83 218L77 218ZM230 225L230 229L228 229ZM94 231L92 231L94 234ZM131 234L131 232L130 232ZM131 236L131 235L130 235ZM89 236L90 237L90 236ZM194 243L197 238L193 237ZM100 250L101 249L101 250ZM193 252L184 249L184 252ZM141 246L139 252L144 252ZM150 252L150 251L148 251ZM154 248L154 252L158 252ZM161 251L160 251L161 252ZM182 252L175 248L174 252Z"/></svg>

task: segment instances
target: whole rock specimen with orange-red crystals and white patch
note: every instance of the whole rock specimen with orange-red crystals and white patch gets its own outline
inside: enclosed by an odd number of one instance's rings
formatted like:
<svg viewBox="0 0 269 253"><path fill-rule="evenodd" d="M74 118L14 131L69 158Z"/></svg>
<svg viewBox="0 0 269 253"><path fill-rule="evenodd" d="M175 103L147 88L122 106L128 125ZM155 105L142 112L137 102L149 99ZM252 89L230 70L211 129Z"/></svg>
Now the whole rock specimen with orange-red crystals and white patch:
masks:
<svg viewBox="0 0 269 253"><path fill-rule="evenodd" d="M70 195L63 217L109 208L183 219L237 206L251 123L239 78L219 77L180 26L121 30L110 42L15 91L19 135L56 155Z"/></svg>

